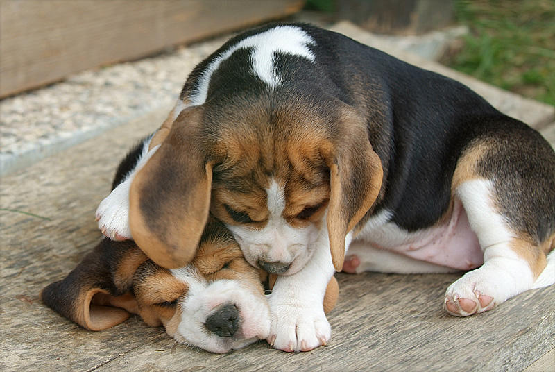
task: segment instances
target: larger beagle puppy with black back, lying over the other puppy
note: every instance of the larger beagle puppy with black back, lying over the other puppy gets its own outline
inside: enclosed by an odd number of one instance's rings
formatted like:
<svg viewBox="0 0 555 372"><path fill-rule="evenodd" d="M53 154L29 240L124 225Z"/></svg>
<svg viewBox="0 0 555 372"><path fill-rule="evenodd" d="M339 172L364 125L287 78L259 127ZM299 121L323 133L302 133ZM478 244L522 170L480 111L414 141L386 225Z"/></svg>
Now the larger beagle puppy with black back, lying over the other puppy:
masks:
<svg viewBox="0 0 555 372"><path fill-rule="evenodd" d="M282 350L330 339L322 298L349 246L350 271L470 270L445 294L458 316L555 282L547 141L450 78L305 24L201 62L97 217L172 268L209 212L280 274L268 341Z"/></svg>

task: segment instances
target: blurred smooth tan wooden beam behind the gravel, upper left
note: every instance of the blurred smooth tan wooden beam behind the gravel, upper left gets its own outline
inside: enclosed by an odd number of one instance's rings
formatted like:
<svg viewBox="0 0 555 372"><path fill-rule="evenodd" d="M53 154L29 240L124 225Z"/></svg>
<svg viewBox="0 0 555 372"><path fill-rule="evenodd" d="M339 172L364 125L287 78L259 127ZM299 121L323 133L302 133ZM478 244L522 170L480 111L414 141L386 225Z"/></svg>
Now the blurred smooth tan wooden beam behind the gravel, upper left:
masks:
<svg viewBox="0 0 555 372"><path fill-rule="evenodd" d="M3 0L0 97L302 8L302 0Z"/></svg>

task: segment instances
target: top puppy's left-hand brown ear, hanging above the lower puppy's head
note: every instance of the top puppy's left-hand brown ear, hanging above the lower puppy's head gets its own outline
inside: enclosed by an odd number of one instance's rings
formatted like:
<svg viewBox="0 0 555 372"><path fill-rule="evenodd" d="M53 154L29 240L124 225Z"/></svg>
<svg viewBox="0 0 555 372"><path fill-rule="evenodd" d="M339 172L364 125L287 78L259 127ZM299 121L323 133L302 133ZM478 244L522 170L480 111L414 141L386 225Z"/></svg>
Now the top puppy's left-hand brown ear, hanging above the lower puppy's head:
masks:
<svg viewBox="0 0 555 372"><path fill-rule="evenodd" d="M212 162L202 149L202 115L201 106L183 110L131 184L131 235L167 269L191 262L208 218Z"/></svg>

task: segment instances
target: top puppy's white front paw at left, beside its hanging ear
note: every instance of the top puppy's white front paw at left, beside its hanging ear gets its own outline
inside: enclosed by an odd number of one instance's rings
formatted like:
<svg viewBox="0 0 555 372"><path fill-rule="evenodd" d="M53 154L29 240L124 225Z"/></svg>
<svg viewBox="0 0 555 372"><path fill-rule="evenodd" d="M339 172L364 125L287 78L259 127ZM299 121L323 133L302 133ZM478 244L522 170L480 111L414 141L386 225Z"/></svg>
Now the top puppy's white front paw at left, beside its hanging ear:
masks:
<svg viewBox="0 0 555 372"><path fill-rule="evenodd" d="M129 229L129 188L133 178L120 183L96 208L99 229L112 240L131 239Z"/></svg>

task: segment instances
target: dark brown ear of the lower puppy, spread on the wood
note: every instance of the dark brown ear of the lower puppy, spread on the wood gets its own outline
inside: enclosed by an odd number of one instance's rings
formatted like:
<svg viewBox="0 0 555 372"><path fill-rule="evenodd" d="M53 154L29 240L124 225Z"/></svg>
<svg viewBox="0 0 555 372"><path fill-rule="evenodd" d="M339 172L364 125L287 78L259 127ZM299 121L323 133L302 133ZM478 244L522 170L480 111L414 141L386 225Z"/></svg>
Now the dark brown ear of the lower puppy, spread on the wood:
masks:
<svg viewBox="0 0 555 372"><path fill-rule="evenodd" d="M146 260L133 242L104 238L66 278L42 290L42 302L88 330L116 326L138 312L129 289Z"/></svg>

